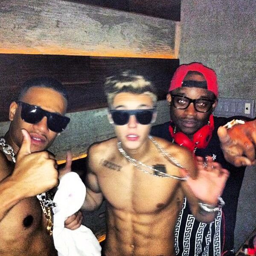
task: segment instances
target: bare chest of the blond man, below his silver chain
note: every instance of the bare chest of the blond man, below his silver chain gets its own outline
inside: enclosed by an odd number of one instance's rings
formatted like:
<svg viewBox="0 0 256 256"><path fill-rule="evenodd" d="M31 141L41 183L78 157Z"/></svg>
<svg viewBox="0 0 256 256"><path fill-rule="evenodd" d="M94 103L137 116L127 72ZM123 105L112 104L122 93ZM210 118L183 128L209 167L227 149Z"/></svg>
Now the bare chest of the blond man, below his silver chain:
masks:
<svg viewBox="0 0 256 256"><path fill-rule="evenodd" d="M120 210L153 213L183 200L180 181L150 175L131 164L102 169L98 181L108 202Z"/></svg>

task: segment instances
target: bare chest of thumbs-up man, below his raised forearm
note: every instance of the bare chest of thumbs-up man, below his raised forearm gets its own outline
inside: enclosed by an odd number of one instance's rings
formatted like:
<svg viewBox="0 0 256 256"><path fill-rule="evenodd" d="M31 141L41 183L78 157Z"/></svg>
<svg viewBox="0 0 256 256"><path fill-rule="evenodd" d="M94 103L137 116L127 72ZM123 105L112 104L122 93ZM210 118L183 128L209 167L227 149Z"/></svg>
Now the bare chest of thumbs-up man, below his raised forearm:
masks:
<svg viewBox="0 0 256 256"><path fill-rule="evenodd" d="M43 220L37 198L26 198L16 204L0 222L0 254L57 256Z"/></svg>

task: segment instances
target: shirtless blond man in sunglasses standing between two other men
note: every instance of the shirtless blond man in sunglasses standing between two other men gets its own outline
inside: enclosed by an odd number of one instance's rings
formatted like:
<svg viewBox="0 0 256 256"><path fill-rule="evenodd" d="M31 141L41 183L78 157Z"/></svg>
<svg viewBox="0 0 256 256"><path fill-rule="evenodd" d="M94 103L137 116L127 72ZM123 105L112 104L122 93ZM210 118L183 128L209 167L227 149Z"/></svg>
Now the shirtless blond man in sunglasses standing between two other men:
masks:
<svg viewBox="0 0 256 256"><path fill-rule="evenodd" d="M212 221L228 172L210 157L196 168L186 148L148 137L157 115L150 81L122 73L107 79L105 92L116 137L88 151L82 208L96 209L105 197L106 256L174 256L184 195L196 218Z"/></svg>

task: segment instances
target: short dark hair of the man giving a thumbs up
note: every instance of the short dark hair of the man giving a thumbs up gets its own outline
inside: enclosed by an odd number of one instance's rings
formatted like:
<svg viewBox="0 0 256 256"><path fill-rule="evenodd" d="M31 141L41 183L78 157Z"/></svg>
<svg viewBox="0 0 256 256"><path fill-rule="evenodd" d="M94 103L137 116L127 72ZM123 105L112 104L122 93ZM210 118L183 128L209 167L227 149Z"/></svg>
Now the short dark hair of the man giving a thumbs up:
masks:
<svg viewBox="0 0 256 256"><path fill-rule="evenodd" d="M67 90L63 87L61 82L51 77L38 77L27 80L21 86L17 100L22 100L23 96L31 87L43 87L53 89L58 93L61 93L61 95L68 101Z"/></svg>

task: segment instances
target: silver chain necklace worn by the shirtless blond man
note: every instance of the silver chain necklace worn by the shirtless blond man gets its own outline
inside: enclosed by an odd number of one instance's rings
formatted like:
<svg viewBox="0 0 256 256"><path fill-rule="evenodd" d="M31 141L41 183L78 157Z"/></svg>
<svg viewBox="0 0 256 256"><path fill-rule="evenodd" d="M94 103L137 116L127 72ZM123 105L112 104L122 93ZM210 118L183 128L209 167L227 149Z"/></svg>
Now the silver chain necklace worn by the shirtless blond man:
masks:
<svg viewBox="0 0 256 256"><path fill-rule="evenodd" d="M130 157L126 152L125 150L122 148L122 143L121 142L117 142L117 148L119 150L119 152L128 160L129 163L133 164L137 169L147 173L147 174L150 174L150 175L153 175L153 176L156 176L156 177L168 177L168 178L174 178L176 180L187 180L188 177L189 177L189 171L184 168L174 157L172 157L168 152L166 152L158 143L156 140L154 140L150 135L148 136L149 140L151 140L152 143L154 143L154 145L156 146L157 150L160 152L161 155L163 155L163 157L165 157L169 162L171 162L172 164L174 164L175 166L179 167L179 168L183 168L187 171L187 175L186 177L178 177L178 176L175 176L175 175L169 175L165 172L161 172L157 169L155 169L154 167L152 166L148 166L146 165L145 163L142 163L132 157ZM151 170L152 172L149 172L147 171L148 170Z"/></svg>

